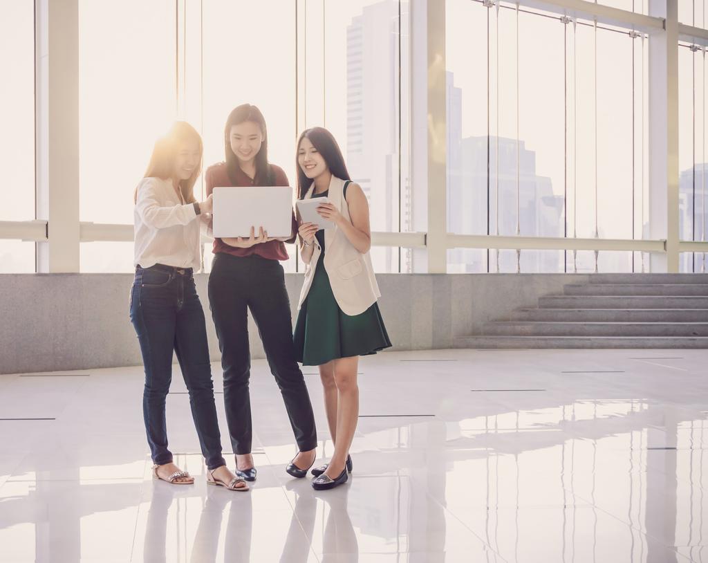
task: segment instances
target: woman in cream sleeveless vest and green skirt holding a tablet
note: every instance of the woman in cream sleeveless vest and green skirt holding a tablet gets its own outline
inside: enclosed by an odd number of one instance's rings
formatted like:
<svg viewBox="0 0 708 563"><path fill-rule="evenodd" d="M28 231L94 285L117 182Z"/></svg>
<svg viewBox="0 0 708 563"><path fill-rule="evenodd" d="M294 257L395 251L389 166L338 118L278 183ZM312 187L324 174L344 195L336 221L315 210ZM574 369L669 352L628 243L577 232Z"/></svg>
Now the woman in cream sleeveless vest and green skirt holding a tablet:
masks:
<svg viewBox="0 0 708 563"><path fill-rule="evenodd" d="M299 226L300 256L307 264L295 324L295 350L303 365L319 366L334 453L312 470L314 489L333 489L353 469L349 447L359 416L359 356L391 346L379 312L379 287L369 256L371 231L366 195L350 176L331 133L313 127L297 142L301 200L326 198L317 211L333 223ZM326 203L324 203L326 201Z"/></svg>

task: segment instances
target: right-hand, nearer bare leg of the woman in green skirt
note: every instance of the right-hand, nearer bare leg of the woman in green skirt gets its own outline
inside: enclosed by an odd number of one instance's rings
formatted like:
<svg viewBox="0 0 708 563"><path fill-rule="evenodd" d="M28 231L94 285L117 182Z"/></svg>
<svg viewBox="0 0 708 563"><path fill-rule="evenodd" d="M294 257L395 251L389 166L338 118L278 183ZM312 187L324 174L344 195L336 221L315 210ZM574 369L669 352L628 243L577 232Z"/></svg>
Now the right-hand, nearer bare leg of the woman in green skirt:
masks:
<svg viewBox="0 0 708 563"><path fill-rule="evenodd" d="M356 432L356 425L359 419L358 364L358 356L333 360L338 408L334 455L325 472L330 479L336 479L343 472L349 447Z"/></svg>

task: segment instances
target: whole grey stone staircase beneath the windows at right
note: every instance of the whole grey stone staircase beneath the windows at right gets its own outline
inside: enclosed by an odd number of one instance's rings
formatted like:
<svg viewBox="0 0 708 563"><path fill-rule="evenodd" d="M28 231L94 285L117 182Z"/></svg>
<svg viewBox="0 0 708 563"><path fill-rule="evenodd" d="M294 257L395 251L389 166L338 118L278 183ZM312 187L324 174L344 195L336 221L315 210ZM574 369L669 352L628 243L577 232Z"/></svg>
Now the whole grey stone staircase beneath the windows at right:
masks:
<svg viewBox="0 0 708 563"><path fill-rule="evenodd" d="M708 274L593 274L456 348L708 348Z"/></svg>

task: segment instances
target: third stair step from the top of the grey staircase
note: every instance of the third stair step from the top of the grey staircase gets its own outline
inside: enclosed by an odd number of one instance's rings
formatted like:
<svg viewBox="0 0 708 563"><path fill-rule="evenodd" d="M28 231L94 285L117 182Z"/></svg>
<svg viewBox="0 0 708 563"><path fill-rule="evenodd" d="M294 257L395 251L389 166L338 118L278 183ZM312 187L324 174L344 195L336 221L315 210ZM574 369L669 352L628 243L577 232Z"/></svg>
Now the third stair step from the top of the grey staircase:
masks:
<svg viewBox="0 0 708 563"><path fill-rule="evenodd" d="M708 296L686 295L547 295L539 307L563 309L708 309Z"/></svg>

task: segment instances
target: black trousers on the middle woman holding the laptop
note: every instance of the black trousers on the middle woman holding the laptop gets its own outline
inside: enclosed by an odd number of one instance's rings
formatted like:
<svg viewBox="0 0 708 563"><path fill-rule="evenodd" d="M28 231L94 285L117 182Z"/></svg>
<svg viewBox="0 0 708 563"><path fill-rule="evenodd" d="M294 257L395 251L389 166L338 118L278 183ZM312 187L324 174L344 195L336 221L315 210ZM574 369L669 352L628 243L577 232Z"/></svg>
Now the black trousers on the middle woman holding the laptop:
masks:
<svg viewBox="0 0 708 563"><path fill-rule="evenodd" d="M251 453L251 353L247 310L263 341L290 426L301 451L317 445L312 404L292 344L290 299L280 262L261 256L217 254L209 275L209 302L224 370L224 406L234 453Z"/></svg>

